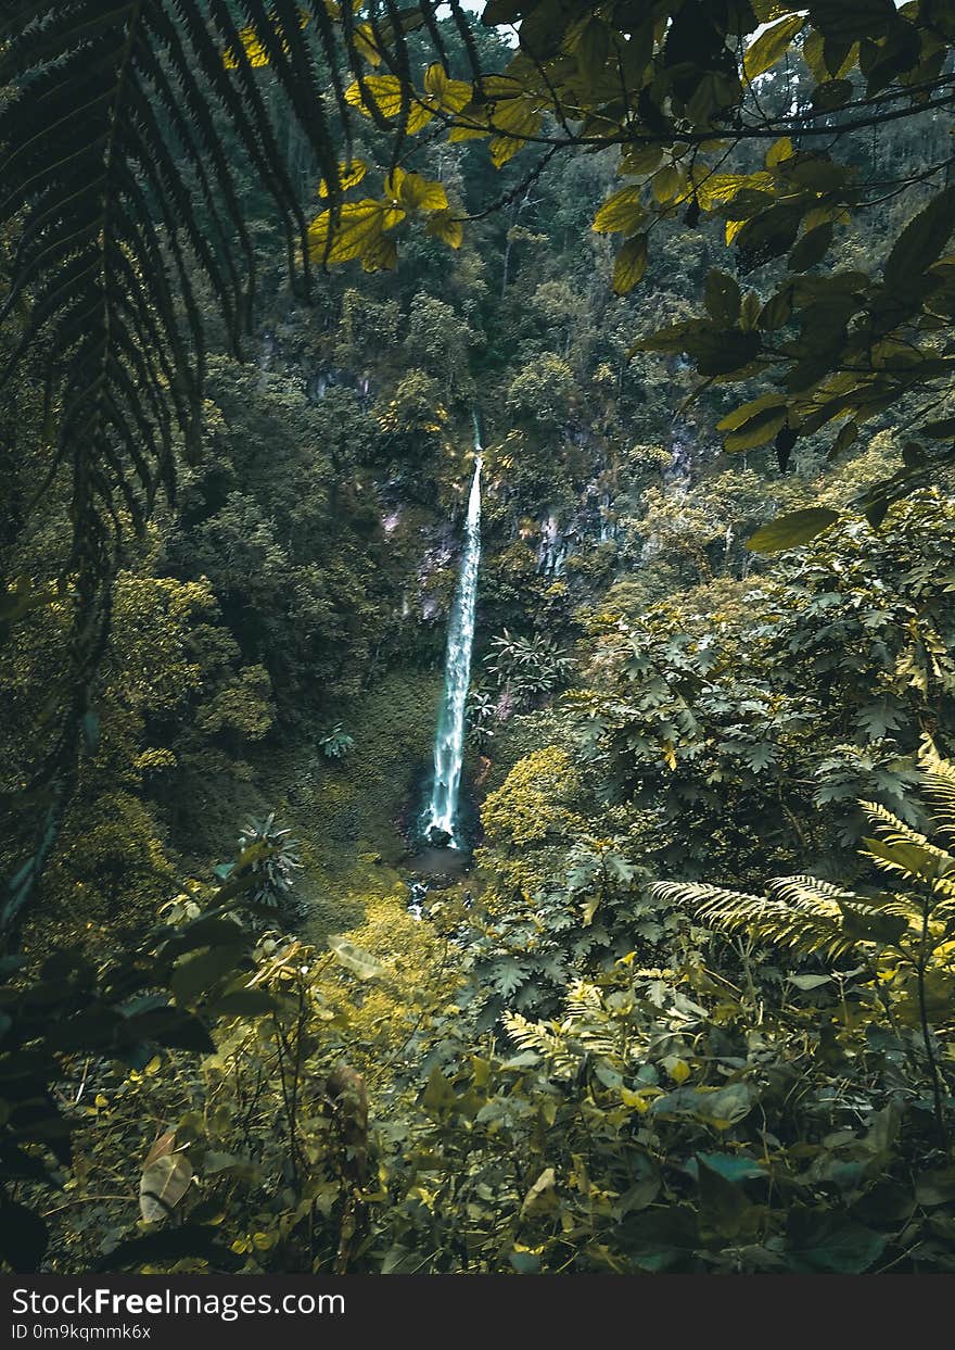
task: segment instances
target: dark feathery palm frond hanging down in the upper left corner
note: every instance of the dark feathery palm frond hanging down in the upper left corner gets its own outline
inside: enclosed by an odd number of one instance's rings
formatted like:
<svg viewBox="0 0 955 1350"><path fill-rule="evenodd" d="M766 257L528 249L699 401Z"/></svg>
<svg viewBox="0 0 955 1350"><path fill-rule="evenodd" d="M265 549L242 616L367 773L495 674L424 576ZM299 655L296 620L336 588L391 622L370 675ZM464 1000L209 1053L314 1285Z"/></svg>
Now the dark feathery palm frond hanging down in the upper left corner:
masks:
<svg viewBox="0 0 955 1350"><path fill-rule="evenodd" d="M386 7L382 40L394 43L386 58L401 72L405 30L430 20L432 31L433 5L425 8ZM272 198L290 271L308 290L306 220L279 148L289 119L324 178L333 219L340 212L340 144L351 154L341 72L360 70L360 59L351 4L333 15L326 0L4 7L0 235L12 240L12 256L0 304L9 335L0 387L28 360L58 408L34 509L63 483L71 536L62 571L76 578L61 701L69 725L42 756L32 786L55 778L61 795L69 790L124 531L142 529L156 494L173 498L177 458L198 446L198 288L212 293L236 354L250 327L245 178ZM399 134L406 122L402 105ZM388 127L394 132L394 119ZM42 865L39 846L32 861L30 886ZM24 903L23 883L16 895L0 927Z"/></svg>

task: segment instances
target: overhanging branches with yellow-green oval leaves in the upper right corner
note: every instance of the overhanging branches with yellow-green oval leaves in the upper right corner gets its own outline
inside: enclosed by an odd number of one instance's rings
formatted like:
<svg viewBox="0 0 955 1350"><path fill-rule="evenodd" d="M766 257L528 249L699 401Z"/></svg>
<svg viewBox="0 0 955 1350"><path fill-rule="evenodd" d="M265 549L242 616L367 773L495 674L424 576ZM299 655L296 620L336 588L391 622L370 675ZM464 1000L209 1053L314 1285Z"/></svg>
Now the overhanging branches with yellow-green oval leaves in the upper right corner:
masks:
<svg viewBox="0 0 955 1350"><path fill-rule="evenodd" d="M503 72L480 70L471 43L468 80L449 78L444 59L422 80L403 34L370 30L363 55L376 73L356 78L345 97L390 123L399 144L428 127L429 139L444 131L449 143L486 140L496 169L523 154L523 178L498 209L530 190L558 154L612 148L622 185L592 228L622 240L618 294L643 282L670 221L688 231L718 221L739 277L785 258L788 275L770 281L769 296L712 269L704 313L664 325L633 351L687 356L704 389L751 390L769 375L774 387L747 397L720 431L732 451L772 443L782 467L800 440L835 427L840 452L886 408L912 401L917 439L862 505L877 522L890 502L931 481L952 436L952 420L936 412L950 375L955 227L955 189L943 178L955 39L944 5L878 0L807 14L755 0L723 8L661 0L631 15L494 0L482 18L491 28L514 24L517 50ZM920 113L929 135L919 165L865 171L858 138ZM839 266L857 217L915 184L931 185L928 201L879 250L878 266L858 251ZM383 204L391 200L386 193ZM360 239L361 212L374 207L345 208L343 259L394 263L380 231L367 247ZM429 230L459 247L467 216L440 215L448 230ZM333 239L335 228L324 213L321 239ZM821 263L826 273L816 270ZM929 448L935 441L946 448ZM811 539L835 518L827 508L799 512L762 544Z"/></svg>

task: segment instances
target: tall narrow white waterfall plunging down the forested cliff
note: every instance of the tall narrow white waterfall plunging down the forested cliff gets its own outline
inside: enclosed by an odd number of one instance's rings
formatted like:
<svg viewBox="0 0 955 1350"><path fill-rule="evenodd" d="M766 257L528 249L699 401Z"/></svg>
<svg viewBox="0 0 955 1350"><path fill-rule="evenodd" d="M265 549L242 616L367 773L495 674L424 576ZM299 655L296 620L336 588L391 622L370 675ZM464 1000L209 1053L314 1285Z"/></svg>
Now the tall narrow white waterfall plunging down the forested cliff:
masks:
<svg viewBox="0 0 955 1350"><path fill-rule="evenodd" d="M448 651L444 662L444 698L434 737L434 786L424 814L425 838L460 848L457 829L457 795L461 787L464 759L464 713L471 684L471 648L475 640L475 601L480 563L480 466L482 444L475 418L475 473L468 497L468 520L464 531L464 555L455 603L448 626ZM445 838L446 836L446 838Z"/></svg>

